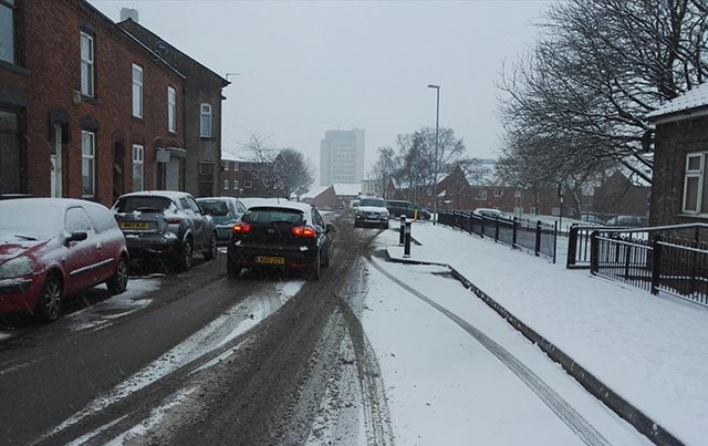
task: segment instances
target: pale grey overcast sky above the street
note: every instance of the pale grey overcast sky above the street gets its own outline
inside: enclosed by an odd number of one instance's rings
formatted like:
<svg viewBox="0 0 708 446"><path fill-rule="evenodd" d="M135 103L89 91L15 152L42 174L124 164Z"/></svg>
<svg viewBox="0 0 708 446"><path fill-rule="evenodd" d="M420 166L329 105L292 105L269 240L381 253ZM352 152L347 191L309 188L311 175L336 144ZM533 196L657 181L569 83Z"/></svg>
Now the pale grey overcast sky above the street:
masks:
<svg viewBox="0 0 708 446"><path fill-rule="evenodd" d="M496 157L501 127L494 82L538 37L546 1L90 0L121 8L233 83L225 89L223 144L249 135L305 154L319 177L327 129L364 128L366 172L396 136L440 126L468 155ZM315 186L319 183L315 184Z"/></svg>

